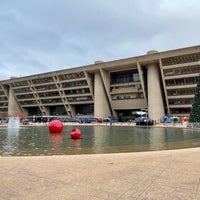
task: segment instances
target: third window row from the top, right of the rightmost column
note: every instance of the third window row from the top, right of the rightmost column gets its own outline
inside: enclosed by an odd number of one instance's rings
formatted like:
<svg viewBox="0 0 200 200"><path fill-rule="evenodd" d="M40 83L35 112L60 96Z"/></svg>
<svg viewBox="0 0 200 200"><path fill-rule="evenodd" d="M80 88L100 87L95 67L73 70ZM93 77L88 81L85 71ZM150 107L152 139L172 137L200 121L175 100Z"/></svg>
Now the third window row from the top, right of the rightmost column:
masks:
<svg viewBox="0 0 200 200"><path fill-rule="evenodd" d="M165 81L167 86L184 85L184 84L196 84L197 82L198 82L198 77L170 79L170 80L166 80Z"/></svg>

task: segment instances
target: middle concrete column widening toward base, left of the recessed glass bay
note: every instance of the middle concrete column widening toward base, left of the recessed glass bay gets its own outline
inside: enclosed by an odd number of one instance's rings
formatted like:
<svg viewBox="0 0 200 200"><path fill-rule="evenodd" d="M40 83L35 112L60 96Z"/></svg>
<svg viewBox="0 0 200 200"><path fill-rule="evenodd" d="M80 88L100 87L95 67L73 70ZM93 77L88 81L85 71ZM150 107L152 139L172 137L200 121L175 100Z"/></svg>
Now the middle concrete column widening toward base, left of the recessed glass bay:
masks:
<svg viewBox="0 0 200 200"><path fill-rule="evenodd" d="M111 112L103 81L100 72L96 72L94 75L94 116L98 118L110 115Z"/></svg>

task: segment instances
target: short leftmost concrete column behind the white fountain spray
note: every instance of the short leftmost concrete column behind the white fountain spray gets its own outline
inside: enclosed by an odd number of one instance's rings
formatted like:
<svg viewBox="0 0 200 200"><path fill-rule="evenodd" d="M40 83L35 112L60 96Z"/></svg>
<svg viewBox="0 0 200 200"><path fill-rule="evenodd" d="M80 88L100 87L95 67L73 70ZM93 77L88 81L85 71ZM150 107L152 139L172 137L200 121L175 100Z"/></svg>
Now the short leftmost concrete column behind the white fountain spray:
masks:
<svg viewBox="0 0 200 200"><path fill-rule="evenodd" d="M15 116L17 113L22 112L20 109L12 90L9 89L9 98L8 98L8 115Z"/></svg>

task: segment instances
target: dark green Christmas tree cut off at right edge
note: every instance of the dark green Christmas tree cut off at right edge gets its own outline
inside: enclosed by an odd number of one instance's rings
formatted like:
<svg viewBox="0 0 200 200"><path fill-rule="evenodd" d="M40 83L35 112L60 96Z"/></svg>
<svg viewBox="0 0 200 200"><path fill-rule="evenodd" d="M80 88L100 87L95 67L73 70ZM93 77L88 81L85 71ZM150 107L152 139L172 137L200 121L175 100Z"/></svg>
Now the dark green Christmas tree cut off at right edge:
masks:
<svg viewBox="0 0 200 200"><path fill-rule="evenodd" d="M200 123L200 77L197 81L197 88L190 112L189 123Z"/></svg>

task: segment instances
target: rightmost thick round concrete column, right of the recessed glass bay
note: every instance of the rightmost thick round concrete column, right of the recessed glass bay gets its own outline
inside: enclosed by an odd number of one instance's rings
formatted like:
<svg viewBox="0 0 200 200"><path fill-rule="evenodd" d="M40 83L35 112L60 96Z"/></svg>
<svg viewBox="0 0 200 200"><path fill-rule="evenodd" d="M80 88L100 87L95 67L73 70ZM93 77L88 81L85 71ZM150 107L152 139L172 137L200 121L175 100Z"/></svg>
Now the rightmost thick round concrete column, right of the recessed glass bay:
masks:
<svg viewBox="0 0 200 200"><path fill-rule="evenodd" d="M157 64L147 66L148 112L149 117L157 122L164 116L160 72Z"/></svg>

